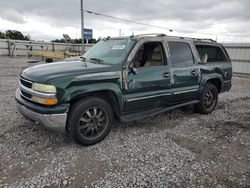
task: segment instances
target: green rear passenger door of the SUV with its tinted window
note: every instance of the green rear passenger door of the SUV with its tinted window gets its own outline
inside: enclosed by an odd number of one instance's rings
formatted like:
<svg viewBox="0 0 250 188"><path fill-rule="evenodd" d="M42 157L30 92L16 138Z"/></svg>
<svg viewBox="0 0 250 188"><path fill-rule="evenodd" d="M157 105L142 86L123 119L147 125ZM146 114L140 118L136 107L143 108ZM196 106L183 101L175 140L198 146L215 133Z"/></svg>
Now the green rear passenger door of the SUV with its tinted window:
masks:
<svg viewBox="0 0 250 188"><path fill-rule="evenodd" d="M199 89L199 68L188 42L168 42L172 64L172 102L196 99Z"/></svg>

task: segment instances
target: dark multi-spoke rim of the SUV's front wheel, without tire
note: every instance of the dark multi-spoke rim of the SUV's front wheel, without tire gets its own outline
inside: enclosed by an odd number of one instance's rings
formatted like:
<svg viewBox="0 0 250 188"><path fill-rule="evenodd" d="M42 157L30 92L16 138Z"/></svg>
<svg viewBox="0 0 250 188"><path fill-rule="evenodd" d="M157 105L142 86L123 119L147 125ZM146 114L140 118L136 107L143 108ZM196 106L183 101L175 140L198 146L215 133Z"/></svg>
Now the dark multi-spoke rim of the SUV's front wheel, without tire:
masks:
<svg viewBox="0 0 250 188"><path fill-rule="evenodd" d="M81 115L78 131L84 139L94 140L103 134L108 123L108 113L104 108L91 107Z"/></svg>

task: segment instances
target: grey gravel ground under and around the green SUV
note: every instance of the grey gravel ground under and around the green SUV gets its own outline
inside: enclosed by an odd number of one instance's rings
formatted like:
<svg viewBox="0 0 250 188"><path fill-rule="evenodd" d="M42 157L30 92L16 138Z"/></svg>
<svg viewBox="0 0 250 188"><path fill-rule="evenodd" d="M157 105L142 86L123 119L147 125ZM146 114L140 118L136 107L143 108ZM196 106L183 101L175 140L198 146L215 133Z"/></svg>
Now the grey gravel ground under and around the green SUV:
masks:
<svg viewBox="0 0 250 188"><path fill-rule="evenodd" d="M250 187L249 78L209 115L181 108L81 147L18 113L18 76L33 65L0 57L0 187Z"/></svg>

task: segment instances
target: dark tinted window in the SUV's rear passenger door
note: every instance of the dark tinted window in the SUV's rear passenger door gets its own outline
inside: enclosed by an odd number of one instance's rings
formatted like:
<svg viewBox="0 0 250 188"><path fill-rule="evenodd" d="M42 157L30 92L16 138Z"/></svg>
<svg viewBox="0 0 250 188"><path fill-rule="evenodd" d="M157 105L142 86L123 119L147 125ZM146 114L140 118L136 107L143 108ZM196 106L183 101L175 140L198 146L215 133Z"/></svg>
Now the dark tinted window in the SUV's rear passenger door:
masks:
<svg viewBox="0 0 250 188"><path fill-rule="evenodd" d="M193 54L188 43L169 42L170 57L173 65L194 63Z"/></svg>

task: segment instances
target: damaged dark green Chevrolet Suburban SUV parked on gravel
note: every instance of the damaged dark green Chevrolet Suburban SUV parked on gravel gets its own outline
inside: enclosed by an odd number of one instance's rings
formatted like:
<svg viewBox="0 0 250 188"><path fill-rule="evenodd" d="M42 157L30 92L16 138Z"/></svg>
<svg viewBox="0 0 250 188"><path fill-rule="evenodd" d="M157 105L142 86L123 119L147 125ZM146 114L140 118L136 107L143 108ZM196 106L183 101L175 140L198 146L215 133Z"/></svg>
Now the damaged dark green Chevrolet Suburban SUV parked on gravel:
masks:
<svg viewBox="0 0 250 188"><path fill-rule="evenodd" d="M211 39L108 37L81 57L24 70L15 97L23 116L92 145L114 119L134 121L191 104L208 114L231 78L225 48Z"/></svg>

